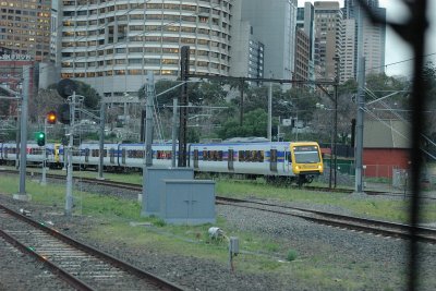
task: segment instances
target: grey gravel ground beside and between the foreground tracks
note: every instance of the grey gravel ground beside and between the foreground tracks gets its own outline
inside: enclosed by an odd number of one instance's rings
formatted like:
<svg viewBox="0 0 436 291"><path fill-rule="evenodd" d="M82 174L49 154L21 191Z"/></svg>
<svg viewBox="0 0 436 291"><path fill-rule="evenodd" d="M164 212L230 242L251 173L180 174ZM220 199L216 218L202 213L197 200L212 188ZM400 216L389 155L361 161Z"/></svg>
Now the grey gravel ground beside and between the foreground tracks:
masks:
<svg viewBox="0 0 436 291"><path fill-rule="evenodd" d="M88 190L117 195L108 189L104 190L98 186L92 186ZM136 194L131 193L131 197L135 198ZM356 196L354 198L365 197ZM107 253L175 282L186 290L408 289L405 282L408 258L404 255L408 244L405 242L319 226L299 218L283 219L274 214L253 209L217 206L217 215L225 218L229 227L234 229L233 233L228 234L238 237L238 231L244 231L253 233L253 237L256 238L272 239L282 251L277 256L283 259L286 257L284 250L295 250L299 253L296 260L283 263L292 264L292 271L289 274L270 271L259 274L240 269L238 262L245 259L244 253L235 258L237 271L230 272L226 265L194 256L161 254L149 246L126 247L128 240L122 243L89 240L87 237L89 226L99 226L102 222L92 217L74 217L71 220L63 216L52 216L50 214L59 211L59 209L37 207L3 195L0 195L0 203L9 204L15 209L26 207L33 211L34 218L55 221L56 227L66 234L98 246ZM317 209L347 214L346 210L336 206L323 206ZM426 244L420 244L420 246L422 251L420 280L423 283L419 290L436 290L434 276L436 246ZM241 242L241 248L243 250L243 242ZM2 268L1 275L3 276L3 274ZM19 272L14 274L19 280ZM13 276L13 274L8 276Z"/></svg>

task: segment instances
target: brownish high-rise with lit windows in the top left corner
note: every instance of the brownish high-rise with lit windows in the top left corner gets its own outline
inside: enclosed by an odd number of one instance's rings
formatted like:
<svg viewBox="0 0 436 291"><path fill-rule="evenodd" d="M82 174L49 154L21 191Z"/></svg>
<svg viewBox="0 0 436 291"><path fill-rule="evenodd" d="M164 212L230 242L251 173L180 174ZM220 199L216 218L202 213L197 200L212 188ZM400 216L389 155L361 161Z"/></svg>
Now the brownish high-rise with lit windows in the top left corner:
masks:
<svg viewBox="0 0 436 291"><path fill-rule="evenodd" d="M48 61L50 7L51 0L0 1L0 47L11 49L15 59Z"/></svg>

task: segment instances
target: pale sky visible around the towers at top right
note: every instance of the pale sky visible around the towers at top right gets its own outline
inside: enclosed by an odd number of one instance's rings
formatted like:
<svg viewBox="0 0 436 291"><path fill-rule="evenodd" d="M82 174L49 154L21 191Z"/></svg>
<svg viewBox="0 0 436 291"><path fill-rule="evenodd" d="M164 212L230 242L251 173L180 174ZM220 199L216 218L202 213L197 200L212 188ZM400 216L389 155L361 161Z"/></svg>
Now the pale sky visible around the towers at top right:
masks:
<svg viewBox="0 0 436 291"><path fill-rule="evenodd" d="M299 7L303 7L304 2L306 2L306 0L299 0ZM343 0L339 0L339 3L340 7L343 7ZM428 57L428 60L436 64L436 1L428 0L427 3L429 29L427 31L425 53L435 53ZM388 21L401 23L408 15L408 8L403 4L403 0L379 0L379 5L386 8ZM386 74L404 75L410 77L412 75L413 61L407 61L409 59L413 59L412 49L391 28L387 27L385 53Z"/></svg>

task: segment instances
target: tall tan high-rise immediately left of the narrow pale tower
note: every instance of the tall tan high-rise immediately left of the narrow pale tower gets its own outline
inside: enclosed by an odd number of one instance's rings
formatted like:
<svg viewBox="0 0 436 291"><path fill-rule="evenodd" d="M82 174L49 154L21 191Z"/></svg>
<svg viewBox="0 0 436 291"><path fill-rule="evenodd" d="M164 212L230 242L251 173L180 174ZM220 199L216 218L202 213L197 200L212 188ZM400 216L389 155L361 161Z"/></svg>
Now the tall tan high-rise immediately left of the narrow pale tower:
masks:
<svg viewBox="0 0 436 291"><path fill-rule="evenodd" d="M335 80L342 70L342 11L337 1L316 1L315 7L315 74L316 78ZM339 57L339 59L336 59Z"/></svg>

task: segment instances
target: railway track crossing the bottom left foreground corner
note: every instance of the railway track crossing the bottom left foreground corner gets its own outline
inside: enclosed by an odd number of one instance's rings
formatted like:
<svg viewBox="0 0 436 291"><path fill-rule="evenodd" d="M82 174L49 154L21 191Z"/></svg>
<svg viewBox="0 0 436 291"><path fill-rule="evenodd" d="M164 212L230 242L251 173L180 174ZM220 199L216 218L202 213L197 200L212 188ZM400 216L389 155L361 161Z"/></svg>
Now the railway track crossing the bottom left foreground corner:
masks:
<svg viewBox="0 0 436 291"><path fill-rule="evenodd" d="M182 290L0 205L0 235L77 290Z"/></svg>

